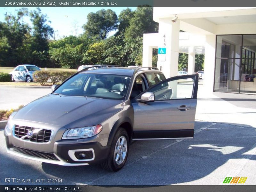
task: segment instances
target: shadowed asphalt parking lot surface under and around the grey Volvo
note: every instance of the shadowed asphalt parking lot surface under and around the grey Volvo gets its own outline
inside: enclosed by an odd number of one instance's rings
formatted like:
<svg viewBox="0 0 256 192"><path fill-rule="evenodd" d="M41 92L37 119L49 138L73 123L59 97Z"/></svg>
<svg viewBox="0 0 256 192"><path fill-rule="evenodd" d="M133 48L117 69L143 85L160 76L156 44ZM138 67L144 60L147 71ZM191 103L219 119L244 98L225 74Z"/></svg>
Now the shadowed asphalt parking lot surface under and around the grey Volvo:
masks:
<svg viewBox="0 0 256 192"><path fill-rule="evenodd" d="M256 184L256 129L221 123L197 121L194 139L135 141L125 167L115 173L100 165L64 167L12 156L4 142L0 156L0 185L227 185L225 177L235 176L247 177L244 185Z"/></svg>

